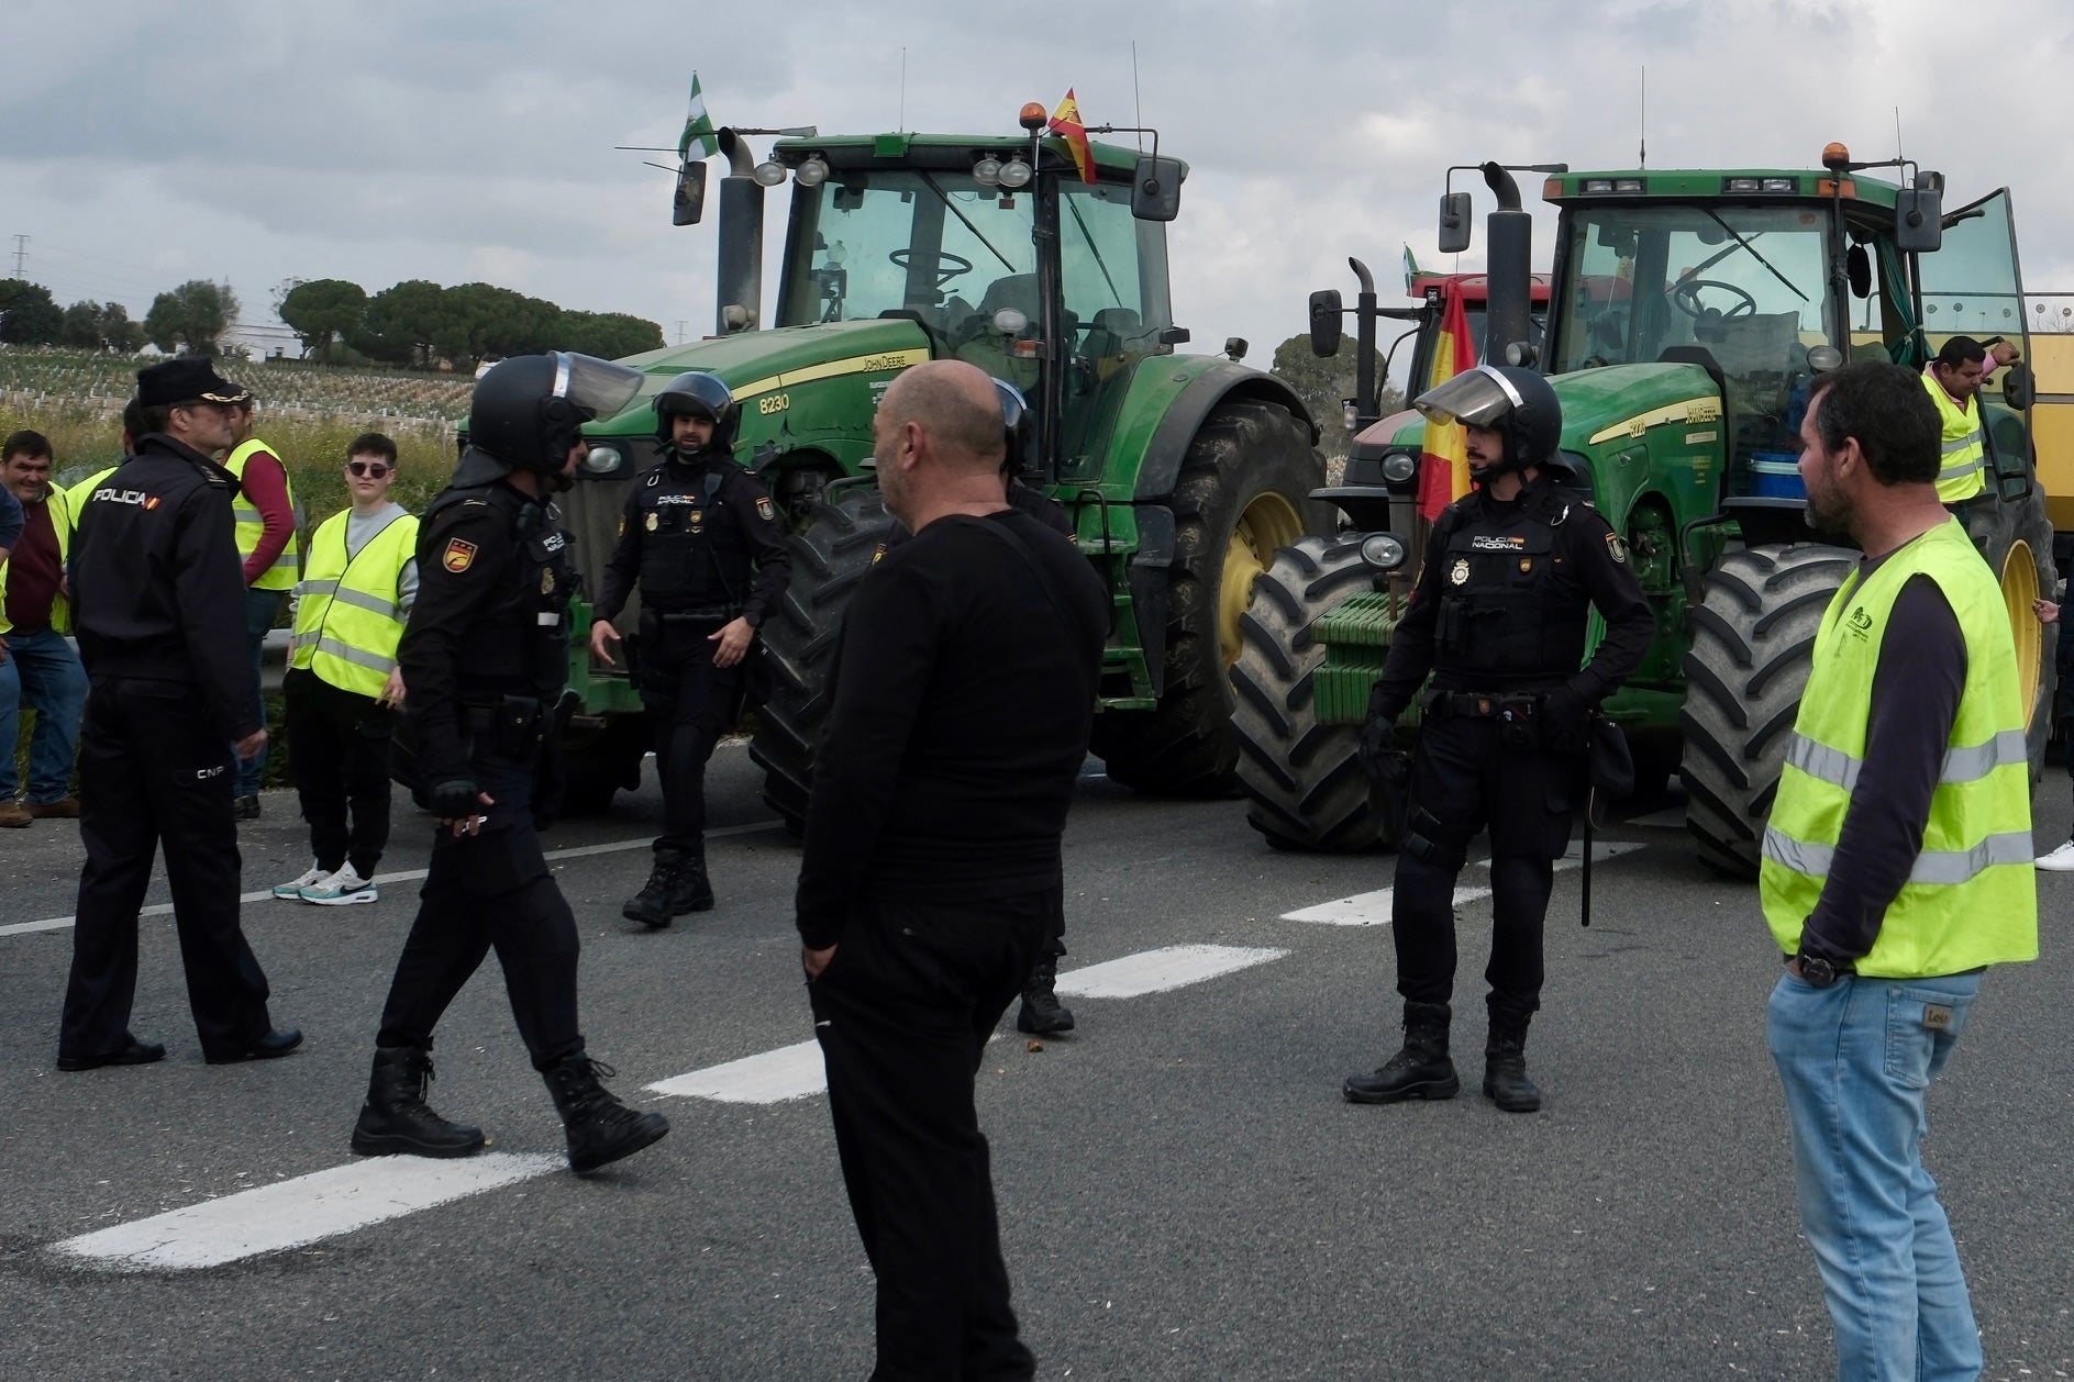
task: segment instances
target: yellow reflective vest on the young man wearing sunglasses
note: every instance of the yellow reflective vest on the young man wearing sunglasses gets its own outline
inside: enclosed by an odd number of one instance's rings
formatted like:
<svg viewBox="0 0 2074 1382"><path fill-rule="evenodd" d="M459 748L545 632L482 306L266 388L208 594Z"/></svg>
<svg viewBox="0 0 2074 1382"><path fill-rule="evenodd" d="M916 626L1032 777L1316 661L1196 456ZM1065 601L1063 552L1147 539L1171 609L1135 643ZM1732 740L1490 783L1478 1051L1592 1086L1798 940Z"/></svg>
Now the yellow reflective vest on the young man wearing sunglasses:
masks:
<svg viewBox="0 0 2074 1382"><path fill-rule="evenodd" d="M396 667L402 607L396 586L417 555L417 518L398 512L353 555L346 520L332 514L309 537L309 576L295 586L290 667L359 696L380 696Z"/></svg>

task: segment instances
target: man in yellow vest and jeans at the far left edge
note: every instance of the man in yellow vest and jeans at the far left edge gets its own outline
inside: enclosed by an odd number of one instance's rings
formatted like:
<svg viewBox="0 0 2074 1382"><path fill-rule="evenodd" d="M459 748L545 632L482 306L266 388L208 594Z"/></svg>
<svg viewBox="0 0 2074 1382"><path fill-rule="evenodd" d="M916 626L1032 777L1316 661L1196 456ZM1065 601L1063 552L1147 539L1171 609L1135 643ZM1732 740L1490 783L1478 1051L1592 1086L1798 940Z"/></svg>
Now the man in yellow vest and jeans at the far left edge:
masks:
<svg viewBox="0 0 2074 1382"><path fill-rule="evenodd" d="M25 514L21 539L0 559L0 827L41 816L77 816L73 750L87 709L87 671L66 642L64 557L73 512L50 483L50 441L17 431L0 443L0 489ZM15 802L15 740L21 707L35 709L29 742L29 796Z"/></svg>

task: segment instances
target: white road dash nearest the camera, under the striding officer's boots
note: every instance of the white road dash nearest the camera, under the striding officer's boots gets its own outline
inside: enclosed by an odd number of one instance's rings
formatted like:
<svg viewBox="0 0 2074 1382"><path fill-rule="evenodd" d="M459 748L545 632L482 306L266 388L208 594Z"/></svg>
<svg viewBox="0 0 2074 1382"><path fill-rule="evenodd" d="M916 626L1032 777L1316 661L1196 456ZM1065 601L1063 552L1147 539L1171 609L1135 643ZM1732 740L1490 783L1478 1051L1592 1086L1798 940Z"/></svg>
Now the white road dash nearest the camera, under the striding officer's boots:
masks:
<svg viewBox="0 0 2074 1382"><path fill-rule="evenodd" d="M222 1266L529 1181L566 1164L545 1152L483 1152L463 1160L369 1156L85 1233L54 1243L54 1249L127 1270Z"/></svg>

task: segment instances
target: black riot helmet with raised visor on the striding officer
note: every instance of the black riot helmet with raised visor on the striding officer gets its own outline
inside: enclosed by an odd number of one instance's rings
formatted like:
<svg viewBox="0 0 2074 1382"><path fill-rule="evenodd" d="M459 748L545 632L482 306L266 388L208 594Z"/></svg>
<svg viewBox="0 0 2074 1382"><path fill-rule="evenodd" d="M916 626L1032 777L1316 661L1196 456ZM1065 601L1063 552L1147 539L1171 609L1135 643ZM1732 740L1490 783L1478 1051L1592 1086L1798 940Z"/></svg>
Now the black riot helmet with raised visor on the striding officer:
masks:
<svg viewBox="0 0 2074 1382"><path fill-rule="evenodd" d="M641 371L556 350L498 361L475 381L469 445L516 470L562 474L583 425L641 392Z"/></svg>

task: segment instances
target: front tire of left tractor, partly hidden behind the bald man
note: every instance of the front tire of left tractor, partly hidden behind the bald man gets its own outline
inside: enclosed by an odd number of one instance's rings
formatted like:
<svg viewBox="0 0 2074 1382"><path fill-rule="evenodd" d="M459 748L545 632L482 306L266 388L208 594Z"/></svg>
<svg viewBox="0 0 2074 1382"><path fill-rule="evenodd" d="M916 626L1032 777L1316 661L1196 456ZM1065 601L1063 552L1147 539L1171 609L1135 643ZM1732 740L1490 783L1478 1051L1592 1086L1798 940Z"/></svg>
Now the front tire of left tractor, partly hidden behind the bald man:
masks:
<svg viewBox="0 0 2074 1382"><path fill-rule="evenodd" d="M807 825L813 756L828 731L828 673L842 611L892 530L894 518L873 487L844 485L817 499L792 539L784 601L761 628L769 696L757 709L749 758L763 769L763 800L794 835Z"/></svg>

